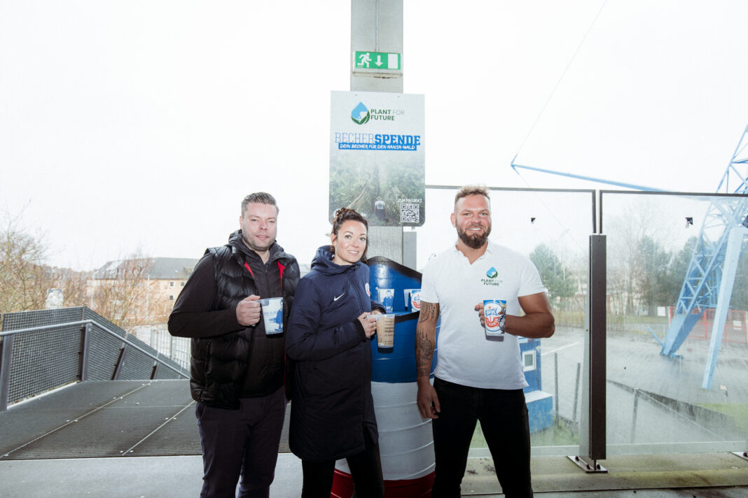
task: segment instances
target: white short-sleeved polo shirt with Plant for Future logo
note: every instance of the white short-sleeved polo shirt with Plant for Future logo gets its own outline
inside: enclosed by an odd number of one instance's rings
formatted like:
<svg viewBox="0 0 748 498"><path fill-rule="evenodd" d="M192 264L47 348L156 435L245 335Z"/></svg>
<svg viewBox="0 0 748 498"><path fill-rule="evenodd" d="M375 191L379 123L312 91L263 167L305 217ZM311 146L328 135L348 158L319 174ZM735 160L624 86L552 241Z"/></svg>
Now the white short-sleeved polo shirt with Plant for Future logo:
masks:
<svg viewBox="0 0 748 498"><path fill-rule="evenodd" d="M545 287L533 262L490 240L473 264L456 246L435 255L423 270L421 302L439 303L436 376L486 389L527 387L517 336L487 340L475 305L506 299L506 314L519 315L518 296L541 292Z"/></svg>

